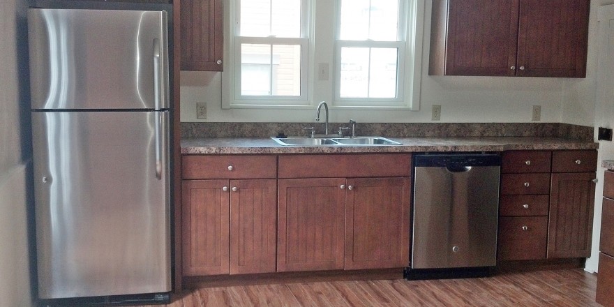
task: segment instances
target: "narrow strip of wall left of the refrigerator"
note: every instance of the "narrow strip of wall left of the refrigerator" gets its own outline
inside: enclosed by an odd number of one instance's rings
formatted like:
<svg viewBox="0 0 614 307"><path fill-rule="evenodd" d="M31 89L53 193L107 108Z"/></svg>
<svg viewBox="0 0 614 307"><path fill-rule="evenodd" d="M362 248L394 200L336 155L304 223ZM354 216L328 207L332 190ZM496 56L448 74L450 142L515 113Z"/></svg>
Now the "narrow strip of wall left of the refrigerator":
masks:
<svg viewBox="0 0 614 307"><path fill-rule="evenodd" d="M0 9L0 306L31 306L27 237L31 173L27 100L26 0ZM25 55L24 55L25 54Z"/></svg>

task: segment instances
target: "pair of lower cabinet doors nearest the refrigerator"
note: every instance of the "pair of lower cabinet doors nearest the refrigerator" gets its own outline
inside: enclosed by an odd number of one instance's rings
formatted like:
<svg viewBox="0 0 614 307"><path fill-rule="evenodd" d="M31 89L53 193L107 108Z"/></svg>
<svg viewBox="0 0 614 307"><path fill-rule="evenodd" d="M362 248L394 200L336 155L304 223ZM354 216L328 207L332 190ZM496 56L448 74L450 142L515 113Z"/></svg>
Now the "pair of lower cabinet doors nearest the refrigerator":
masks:
<svg viewBox="0 0 614 307"><path fill-rule="evenodd" d="M275 271L276 180L184 180L183 274Z"/></svg>

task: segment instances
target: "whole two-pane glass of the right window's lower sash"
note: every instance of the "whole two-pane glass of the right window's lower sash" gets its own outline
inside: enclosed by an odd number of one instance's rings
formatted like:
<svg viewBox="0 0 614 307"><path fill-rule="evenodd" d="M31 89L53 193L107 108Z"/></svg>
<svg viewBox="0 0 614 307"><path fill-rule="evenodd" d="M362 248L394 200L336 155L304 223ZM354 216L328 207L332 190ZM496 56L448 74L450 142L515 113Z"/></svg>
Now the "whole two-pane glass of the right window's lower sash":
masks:
<svg viewBox="0 0 614 307"><path fill-rule="evenodd" d="M343 47L341 98L396 98L396 48Z"/></svg>

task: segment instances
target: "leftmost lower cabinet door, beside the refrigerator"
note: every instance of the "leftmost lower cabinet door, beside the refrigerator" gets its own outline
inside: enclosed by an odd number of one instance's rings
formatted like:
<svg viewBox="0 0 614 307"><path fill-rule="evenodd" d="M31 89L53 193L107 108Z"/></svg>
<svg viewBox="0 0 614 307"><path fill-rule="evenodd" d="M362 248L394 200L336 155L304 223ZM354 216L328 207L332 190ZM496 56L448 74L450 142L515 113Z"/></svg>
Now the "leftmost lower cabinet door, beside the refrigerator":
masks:
<svg viewBox="0 0 614 307"><path fill-rule="evenodd" d="M228 180L181 181L184 276L229 272L228 186Z"/></svg>

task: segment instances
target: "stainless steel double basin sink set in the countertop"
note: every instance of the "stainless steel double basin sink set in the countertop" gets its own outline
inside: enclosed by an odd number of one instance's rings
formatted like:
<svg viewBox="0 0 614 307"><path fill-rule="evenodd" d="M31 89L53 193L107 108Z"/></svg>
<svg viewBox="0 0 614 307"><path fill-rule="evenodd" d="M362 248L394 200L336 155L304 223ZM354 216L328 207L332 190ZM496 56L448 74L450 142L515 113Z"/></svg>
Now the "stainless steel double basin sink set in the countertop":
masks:
<svg viewBox="0 0 614 307"><path fill-rule="evenodd" d="M385 137L271 137L284 146L402 145Z"/></svg>

